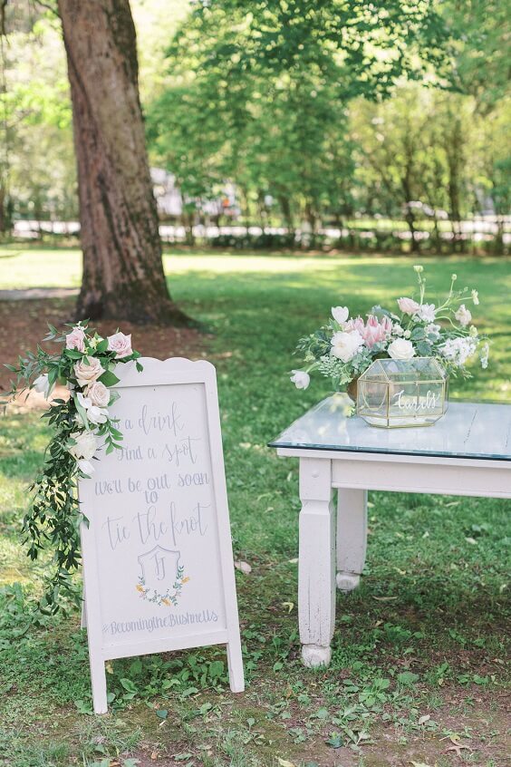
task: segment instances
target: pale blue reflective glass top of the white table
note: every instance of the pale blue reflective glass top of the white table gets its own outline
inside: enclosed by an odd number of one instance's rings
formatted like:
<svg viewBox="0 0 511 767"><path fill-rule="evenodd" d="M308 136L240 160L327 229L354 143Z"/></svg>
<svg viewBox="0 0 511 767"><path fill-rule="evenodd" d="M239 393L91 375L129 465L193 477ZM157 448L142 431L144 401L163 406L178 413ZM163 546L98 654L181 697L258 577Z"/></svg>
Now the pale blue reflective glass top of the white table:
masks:
<svg viewBox="0 0 511 767"><path fill-rule="evenodd" d="M511 404L451 401L432 426L407 429L379 429L352 412L345 394L333 394L269 447L511 461Z"/></svg>

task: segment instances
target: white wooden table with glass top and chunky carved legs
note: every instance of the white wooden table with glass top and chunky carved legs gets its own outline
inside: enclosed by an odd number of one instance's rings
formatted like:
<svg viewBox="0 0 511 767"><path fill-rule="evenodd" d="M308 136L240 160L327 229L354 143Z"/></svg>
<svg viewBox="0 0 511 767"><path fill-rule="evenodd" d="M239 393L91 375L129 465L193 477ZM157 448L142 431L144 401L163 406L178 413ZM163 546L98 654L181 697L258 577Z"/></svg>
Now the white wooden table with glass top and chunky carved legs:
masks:
<svg viewBox="0 0 511 767"><path fill-rule="evenodd" d="M429 427L377 429L334 394L270 442L300 459L298 614L304 665L328 665L335 585L359 584L367 491L511 498L511 405L451 402ZM333 493L337 490L337 520Z"/></svg>

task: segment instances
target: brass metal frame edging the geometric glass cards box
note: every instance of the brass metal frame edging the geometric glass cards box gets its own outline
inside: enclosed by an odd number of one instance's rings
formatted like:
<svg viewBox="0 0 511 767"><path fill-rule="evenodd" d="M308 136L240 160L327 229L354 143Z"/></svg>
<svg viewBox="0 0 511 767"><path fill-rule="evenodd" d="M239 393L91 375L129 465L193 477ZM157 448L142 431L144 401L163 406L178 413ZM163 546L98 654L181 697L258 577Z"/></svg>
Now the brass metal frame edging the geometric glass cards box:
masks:
<svg viewBox="0 0 511 767"><path fill-rule="evenodd" d="M438 371L438 375L432 375L426 378L419 377L419 371L413 370L419 362L427 362L430 367L435 367ZM410 363L410 373L407 374L403 371L401 374L394 374L395 377L390 378L385 372L386 364L391 363ZM375 367L380 367L380 374L371 374L371 370ZM414 378L415 375L415 378ZM402 376L402 381L400 380ZM367 383L381 383L384 385L384 392L381 398L381 403L377 405L371 405L367 402L365 396L365 385ZM439 411L430 416L429 420L425 415L419 416L416 414L413 416L410 413L399 415L391 411L390 405L390 387L403 384L413 384L416 387L416 402L419 403L419 387L423 385L432 385L438 388L441 406ZM383 410L384 407L384 410ZM416 428L417 426L432 426L439 420L448 409L448 375L445 370L439 364L438 360L434 357L413 357L410 360L391 360L389 358L375 360L360 376L357 382L357 414L360 415L364 421L370 423L371 426L375 426L381 429L406 429ZM371 419L369 421L368 419ZM405 423L406 422L406 423Z"/></svg>

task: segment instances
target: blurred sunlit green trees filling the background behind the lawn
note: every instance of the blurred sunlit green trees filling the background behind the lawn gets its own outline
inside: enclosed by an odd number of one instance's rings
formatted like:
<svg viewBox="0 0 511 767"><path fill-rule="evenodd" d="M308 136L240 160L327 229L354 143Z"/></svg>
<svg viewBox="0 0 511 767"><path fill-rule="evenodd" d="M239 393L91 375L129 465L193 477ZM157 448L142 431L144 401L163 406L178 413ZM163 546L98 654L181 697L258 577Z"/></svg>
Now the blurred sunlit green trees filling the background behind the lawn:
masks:
<svg viewBox="0 0 511 767"><path fill-rule="evenodd" d="M461 221L492 212L503 249L508 0L132 6L149 156L175 175L188 230L233 182L246 225L317 242L376 218L384 248L393 219L413 248L424 230L430 248L446 231L463 248ZM27 8L3 42L0 231L13 216L77 217L61 35L51 12Z"/></svg>

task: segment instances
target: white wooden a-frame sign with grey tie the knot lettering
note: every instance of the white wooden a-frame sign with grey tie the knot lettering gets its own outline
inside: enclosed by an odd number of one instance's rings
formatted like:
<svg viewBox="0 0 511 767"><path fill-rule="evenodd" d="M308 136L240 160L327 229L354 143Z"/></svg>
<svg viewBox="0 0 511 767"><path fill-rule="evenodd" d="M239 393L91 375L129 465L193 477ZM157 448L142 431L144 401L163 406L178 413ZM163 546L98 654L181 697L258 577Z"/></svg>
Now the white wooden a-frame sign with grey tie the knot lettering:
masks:
<svg viewBox="0 0 511 767"><path fill-rule="evenodd" d="M79 483L94 711L107 711L104 662L227 645L244 689L215 368L142 358L119 365L122 450Z"/></svg>

